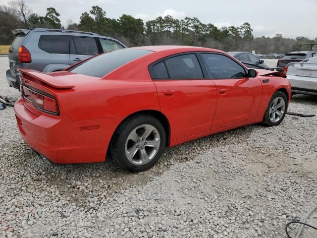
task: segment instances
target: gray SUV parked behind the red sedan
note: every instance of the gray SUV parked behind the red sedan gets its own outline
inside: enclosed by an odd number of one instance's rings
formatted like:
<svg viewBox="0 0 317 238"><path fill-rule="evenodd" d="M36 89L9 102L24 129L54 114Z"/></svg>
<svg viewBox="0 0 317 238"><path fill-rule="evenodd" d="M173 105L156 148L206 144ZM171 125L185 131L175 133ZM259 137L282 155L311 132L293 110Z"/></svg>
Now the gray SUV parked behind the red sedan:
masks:
<svg viewBox="0 0 317 238"><path fill-rule="evenodd" d="M78 61L107 51L126 48L121 42L92 32L36 28L12 31L16 38L9 49L6 79L20 89L18 68L43 72L62 70Z"/></svg>

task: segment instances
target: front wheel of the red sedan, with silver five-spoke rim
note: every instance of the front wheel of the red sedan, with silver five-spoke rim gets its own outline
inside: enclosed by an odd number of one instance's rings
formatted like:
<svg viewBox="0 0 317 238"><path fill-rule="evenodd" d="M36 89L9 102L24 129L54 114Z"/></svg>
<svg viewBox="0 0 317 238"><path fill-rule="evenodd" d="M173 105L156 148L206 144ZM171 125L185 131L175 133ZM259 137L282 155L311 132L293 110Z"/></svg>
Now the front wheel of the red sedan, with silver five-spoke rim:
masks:
<svg viewBox="0 0 317 238"><path fill-rule="evenodd" d="M287 97L277 91L273 94L264 114L264 124L275 126L282 122L287 112Z"/></svg>

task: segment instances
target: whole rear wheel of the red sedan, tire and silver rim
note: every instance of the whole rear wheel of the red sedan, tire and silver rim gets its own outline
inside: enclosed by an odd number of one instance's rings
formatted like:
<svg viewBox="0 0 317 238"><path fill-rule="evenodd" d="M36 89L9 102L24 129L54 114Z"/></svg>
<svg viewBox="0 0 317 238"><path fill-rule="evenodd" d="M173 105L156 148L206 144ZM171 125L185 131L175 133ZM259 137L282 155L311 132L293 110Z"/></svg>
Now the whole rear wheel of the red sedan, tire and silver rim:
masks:
<svg viewBox="0 0 317 238"><path fill-rule="evenodd" d="M150 115L134 116L125 120L114 133L112 158L128 171L145 171L159 161L165 137L165 130L158 119Z"/></svg>

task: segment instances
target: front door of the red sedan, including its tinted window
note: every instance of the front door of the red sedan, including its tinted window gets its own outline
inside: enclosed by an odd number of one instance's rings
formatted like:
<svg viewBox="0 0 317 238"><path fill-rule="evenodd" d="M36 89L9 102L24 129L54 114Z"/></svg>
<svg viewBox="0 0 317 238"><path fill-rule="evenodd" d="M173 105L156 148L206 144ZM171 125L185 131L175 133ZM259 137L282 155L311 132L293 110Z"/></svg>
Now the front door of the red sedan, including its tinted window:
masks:
<svg viewBox="0 0 317 238"><path fill-rule="evenodd" d="M217 109L212 130L255 119L262 100L259 78L246 76L246 69L223 54L201 53L216 85Z"/></svg>

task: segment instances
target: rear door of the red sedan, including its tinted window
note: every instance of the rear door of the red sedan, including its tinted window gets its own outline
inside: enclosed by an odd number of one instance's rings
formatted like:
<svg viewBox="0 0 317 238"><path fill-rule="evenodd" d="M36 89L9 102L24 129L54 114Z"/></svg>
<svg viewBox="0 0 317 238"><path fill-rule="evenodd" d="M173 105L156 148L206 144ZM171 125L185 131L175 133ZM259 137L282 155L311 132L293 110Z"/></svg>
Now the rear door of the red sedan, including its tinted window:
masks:
<svg viewBox="0 0 317 238"><path fill-rule="evenodd" d="M169 57L151 65L150 71L161 112L172 128L170 140L209 131L216 109L216 87L206 77L197 54Z"/></svg>

